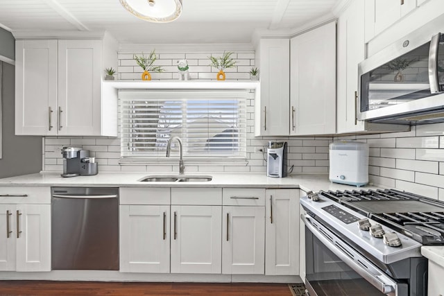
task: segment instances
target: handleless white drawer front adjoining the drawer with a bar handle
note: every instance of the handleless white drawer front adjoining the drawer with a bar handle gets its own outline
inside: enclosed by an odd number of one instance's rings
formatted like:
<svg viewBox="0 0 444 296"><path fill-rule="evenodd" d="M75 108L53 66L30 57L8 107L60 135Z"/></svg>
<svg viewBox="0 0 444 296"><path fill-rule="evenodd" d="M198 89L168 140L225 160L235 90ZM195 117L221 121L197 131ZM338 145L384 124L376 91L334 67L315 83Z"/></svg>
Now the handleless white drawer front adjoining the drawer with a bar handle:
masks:
<svg viewBox="0 0 444 296"><path fill-rule="evenodd" d="M171 188L171 204L222 205L222 189Z"/></svg>

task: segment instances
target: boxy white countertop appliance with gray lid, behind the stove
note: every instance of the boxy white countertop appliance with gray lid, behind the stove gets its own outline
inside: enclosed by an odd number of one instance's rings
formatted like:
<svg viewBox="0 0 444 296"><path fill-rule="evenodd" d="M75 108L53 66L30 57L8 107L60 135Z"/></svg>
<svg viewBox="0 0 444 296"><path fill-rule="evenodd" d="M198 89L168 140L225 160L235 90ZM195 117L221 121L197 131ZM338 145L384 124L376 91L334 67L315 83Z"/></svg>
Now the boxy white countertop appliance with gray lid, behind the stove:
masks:
<svg viewBox="0 0 444 296"><path fill-rule="evenodd" d="M330 143L330 181L363 186L368 183L368 143Z"/></svg>

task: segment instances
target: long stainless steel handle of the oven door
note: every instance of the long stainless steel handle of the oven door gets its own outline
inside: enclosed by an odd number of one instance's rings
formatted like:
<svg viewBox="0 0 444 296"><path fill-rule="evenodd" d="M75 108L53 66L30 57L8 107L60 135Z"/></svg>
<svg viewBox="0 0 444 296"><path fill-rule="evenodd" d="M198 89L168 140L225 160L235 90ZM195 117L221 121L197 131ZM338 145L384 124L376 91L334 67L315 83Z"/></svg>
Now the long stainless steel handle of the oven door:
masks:
<svg viewBox="0 0 444 296"><path fill-rule="evenodd" d="M366 279L370 284L375 286L379 291L382 293L389 295L389 296L395 296L398 295L398 284L390 279L388 276L384 274L384 272L380 271L379 268L375 267L373 263L370 263L370 261L366 260L364 257L362 257L360 254L352 250L351 247L344 247L343 243L340 243L340 239L337 238L334 234L332 234L327 229L322 229L322 232L327 232L326 234L332 238L333 241L330 241L329 238L325 236L321 231L317 229L312 224L312 220L310 216L307 216L307 214L301 215L302 220L305 223L305 226L311 231L311 233L316 236L325 247L327 247L330 251L333 252L336 256L339 257L345 264L347 264L352 270L355 270L361 277ZM356 259L350 258L349 254L346 254L343 250L354 256ZM356 261L359 261L357 263ZM364 267L365 266L365 267Z"/></svg>

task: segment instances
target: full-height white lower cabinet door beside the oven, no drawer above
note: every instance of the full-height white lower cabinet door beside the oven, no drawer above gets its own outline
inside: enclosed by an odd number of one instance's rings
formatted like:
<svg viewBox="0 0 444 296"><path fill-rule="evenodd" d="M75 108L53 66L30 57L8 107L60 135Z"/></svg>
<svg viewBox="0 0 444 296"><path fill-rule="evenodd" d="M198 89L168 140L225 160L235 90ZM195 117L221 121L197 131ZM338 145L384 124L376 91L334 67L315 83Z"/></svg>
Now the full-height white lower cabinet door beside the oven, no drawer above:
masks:
<svg viewBox="0 0 444 296"><path fill-rule="evenodd" d="M299 274L299 191L266 190L265 274Z"/></svg>

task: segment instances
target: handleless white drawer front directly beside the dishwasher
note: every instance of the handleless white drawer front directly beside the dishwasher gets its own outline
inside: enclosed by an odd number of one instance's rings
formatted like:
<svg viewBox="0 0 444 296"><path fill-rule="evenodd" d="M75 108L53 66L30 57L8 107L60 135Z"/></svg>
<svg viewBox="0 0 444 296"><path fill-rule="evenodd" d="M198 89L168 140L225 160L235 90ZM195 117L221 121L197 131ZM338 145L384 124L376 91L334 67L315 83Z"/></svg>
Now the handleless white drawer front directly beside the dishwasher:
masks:
<svg viewBox="0 0 444 296"><path fill-rule="evenodd" d="M169 204L170 189L167 187L120 187L120 204Z"/></svg>

